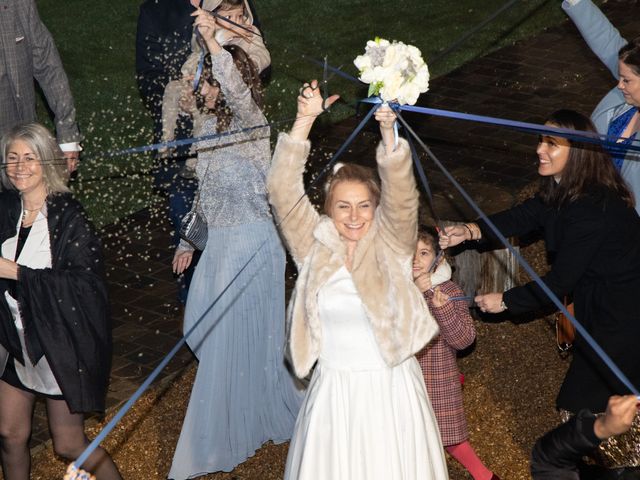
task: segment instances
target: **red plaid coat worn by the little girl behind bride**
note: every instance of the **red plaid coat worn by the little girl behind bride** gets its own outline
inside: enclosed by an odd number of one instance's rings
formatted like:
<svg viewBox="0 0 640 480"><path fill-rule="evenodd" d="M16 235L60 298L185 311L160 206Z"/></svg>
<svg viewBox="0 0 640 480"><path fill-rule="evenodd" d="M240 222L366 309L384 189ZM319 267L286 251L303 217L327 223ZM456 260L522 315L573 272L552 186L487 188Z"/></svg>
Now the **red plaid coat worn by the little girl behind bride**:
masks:
<svg viewBox="0 0 640 480"><path fill-rule="evenodd" d="M439 287L449 297L464 295L460 287L450 280ZM423 348L416 358L438 420L442 444L448 447L469 438L456 351L473 343L476 330L466 302L447 302L437 308L433 305L432 297L432 293L425 294L429 310L440 327L440 335Z"/></svg>

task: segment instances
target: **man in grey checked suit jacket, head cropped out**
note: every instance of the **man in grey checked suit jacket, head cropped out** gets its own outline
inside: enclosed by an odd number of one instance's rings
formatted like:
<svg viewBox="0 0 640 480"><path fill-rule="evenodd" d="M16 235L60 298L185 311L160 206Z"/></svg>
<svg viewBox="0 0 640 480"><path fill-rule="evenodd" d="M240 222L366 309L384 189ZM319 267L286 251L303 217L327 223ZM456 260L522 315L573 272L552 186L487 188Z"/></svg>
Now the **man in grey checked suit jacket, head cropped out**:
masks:
<svg viewBox="0 0 640 480"><path fill-rule="evenodd" d="M55 116L69 171L77 168L81 136L67 75L34 0L0 0L0 137L36 121L37 80Z"/></svg>

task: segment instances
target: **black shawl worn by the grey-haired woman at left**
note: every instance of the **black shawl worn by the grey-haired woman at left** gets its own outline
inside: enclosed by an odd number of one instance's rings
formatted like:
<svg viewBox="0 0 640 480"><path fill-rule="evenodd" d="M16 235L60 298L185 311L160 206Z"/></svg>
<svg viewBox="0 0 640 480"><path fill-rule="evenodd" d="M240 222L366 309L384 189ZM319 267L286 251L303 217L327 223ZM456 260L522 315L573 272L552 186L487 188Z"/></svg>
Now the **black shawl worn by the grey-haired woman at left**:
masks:
<svg viewBox="0 0 640 480"><path fill-rule="evenodd" d="M20 197L0 192L0 244L16 235ZM20 266L17 300L29 358L0 295L0 343L23 365L44 355L74 413L103 411L111 368L111 322L98 237L70 194L47 198L52 268ZM0 292L11 280L0 279Z"/></svg>

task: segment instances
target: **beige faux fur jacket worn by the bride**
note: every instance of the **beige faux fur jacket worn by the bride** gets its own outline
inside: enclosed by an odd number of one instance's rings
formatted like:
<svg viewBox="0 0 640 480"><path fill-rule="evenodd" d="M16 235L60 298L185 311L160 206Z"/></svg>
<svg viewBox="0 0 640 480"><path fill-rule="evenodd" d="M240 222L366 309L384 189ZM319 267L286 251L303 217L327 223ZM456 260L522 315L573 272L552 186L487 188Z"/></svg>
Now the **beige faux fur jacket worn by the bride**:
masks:
<svg viewBox="0 0 640 480"><path fill-rule="evenodd" d="M305 377L322 348L317 296L345 264L346 245L331 218L320 215L304 195L302 175L310 143L280 134L267 180L280 230L298 267L288 308L288 354L298 377ZM382 181L380 205L367 234L358 242L351 275L371 322L380 353L389 366L417 353L438 332L422 294L412 281L418 191L408 144L401 139L387 155L376 152ZM287 214L289 215L287 216Z"/></svg>

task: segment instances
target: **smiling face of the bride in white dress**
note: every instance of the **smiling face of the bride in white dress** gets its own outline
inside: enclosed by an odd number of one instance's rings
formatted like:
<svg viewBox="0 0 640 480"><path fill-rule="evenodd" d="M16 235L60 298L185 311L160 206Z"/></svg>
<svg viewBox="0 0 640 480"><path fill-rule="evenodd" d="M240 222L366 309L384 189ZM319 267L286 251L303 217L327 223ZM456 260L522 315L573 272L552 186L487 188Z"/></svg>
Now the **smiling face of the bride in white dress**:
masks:
<svg viewBox="0 0 640 480"><path fill-rule="evenodd" d="M357 242L364 237L371 227L375 210L366 184L343 181L333 186L329 216L343 239Z"/></svg>

